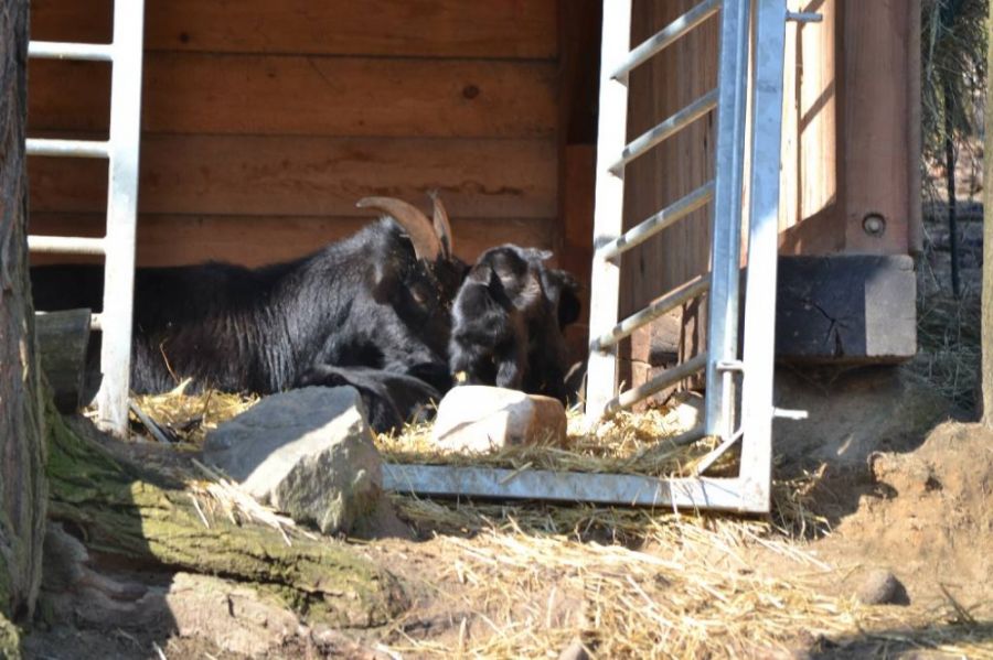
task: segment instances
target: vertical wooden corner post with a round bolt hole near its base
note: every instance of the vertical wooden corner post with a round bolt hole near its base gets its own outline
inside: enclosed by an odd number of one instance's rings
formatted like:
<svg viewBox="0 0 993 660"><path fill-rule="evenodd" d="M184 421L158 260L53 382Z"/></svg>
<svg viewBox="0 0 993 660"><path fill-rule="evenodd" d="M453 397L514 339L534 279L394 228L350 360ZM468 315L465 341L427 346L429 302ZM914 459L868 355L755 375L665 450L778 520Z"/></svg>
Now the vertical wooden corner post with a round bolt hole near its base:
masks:
<svg viewBox="0 0 993 660"><path fill-rule="evenodd" d="M844 0L845 251L908 251L910 182L907 2ZM919 204L915 199L914 204ZM863 219L880 214L872 236Z"/></svg>

